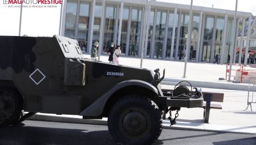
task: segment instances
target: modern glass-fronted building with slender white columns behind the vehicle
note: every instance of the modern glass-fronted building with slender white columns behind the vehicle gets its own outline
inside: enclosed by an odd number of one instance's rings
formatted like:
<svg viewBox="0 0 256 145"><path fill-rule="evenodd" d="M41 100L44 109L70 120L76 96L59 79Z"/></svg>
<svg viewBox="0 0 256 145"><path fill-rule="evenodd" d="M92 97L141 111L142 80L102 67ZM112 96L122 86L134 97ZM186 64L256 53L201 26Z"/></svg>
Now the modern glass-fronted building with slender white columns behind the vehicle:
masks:
<svg viewBox="0 0 256 145"><path fill-rule="evenodd" d="M140 57L143 27L147 24L144 57L184 59L190 5L148 1L145 21L145 0L105 0L104 17L101 16L102 1L65 0L64 3L61 35L77 39L86 53L99 41L103 27L102 53L114 42L122 47L122 55ZM251 13L237 12L237 20L251 23L251 16ZM232 37L234 11L193 6L192 18L189 60L212 63L219 53L221 63L226 63L227 55L235 51L231 48L232 38L238 37L239 21L236 36ZM235 55L234 52L234 58Z"/></svg>

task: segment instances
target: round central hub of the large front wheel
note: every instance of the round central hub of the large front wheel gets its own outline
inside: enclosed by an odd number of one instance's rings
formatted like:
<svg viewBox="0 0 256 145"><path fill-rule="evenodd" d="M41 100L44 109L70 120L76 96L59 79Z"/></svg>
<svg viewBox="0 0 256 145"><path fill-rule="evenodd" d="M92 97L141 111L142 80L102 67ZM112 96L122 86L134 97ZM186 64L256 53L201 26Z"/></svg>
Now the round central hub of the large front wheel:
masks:
<svg viewBox="0 0 256 145"><path fill-rule="evenodd" d="M123 118L123 128L129 135L141 135L147 128L147 119L140 112L132 111Z"/></svg>

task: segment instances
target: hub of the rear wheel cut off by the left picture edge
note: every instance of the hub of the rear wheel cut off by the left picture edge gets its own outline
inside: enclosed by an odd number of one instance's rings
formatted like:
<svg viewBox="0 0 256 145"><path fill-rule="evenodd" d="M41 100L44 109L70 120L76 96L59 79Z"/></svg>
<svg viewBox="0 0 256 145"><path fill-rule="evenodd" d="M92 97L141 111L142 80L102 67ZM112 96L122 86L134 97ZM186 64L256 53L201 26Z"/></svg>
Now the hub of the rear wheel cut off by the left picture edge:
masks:
<svg viewBox="0 0 256 145"><path fill-rule="evenodd" d="M0 119L7 119L15 110L15 101L9 92L0 90Z"/></svg>

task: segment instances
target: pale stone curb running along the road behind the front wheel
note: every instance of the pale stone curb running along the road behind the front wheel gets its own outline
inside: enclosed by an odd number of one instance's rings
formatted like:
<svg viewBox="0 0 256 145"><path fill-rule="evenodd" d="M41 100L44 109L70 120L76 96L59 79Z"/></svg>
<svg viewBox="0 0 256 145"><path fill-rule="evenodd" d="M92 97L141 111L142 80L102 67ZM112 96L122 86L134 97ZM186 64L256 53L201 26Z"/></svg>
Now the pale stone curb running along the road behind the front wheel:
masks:
<svg viewBox="0 0 256 145"><path fill-rule="evenodd" d="M72 123L72 124L90 124L90 125L108 125L108 119L82 119L77 117L61 117L56 115L44 115L44 114L35 114L28 120L33 121L50 121L50 122L63 122L63 123ZM206 125L207 126L207 125ZM228 129L216 129L219 125L212 125L214 129L205 128L204 124L196 124L192 126L184 126L182 123L177 122L176 125L170 126L168 120L163 120L163 129L176 129L176 130L187 130L187 131L207 131L207 132L221 132L221 133L243 133L255 135L256 132L247 132L247 131L235 131L230 128L237 128L233 126L225 126Z"/></svg>

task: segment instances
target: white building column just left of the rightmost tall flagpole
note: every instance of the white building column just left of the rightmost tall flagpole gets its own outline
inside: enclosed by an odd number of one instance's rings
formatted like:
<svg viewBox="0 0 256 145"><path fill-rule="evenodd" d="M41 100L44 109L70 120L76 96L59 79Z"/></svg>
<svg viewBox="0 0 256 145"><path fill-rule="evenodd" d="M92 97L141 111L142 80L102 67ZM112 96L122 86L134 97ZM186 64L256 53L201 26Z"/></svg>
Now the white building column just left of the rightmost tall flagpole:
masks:
<svg viewBox="0 0 256 145"><path fill-rule="evenodd" d="M221 48L221 64L225 63L225 52L226 52L226 34L227 34L227 13L225 14L225 20L224 20L224 28L222 32L222 48Z"/></svg>

